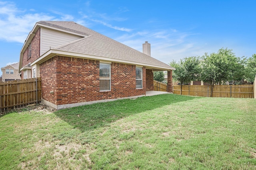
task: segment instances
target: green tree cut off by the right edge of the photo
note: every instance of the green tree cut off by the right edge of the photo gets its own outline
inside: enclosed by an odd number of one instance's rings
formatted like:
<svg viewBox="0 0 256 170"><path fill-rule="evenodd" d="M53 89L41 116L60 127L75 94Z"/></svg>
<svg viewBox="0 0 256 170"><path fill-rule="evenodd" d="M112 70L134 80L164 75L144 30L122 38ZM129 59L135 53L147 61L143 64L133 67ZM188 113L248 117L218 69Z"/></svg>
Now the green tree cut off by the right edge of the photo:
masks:
<svg viewBox="0 0 256 170"><path fill-rule="evenodd" d="M245 78L248 82L253 83L256 75L256 54L247 60L245 66Z"/></svg>

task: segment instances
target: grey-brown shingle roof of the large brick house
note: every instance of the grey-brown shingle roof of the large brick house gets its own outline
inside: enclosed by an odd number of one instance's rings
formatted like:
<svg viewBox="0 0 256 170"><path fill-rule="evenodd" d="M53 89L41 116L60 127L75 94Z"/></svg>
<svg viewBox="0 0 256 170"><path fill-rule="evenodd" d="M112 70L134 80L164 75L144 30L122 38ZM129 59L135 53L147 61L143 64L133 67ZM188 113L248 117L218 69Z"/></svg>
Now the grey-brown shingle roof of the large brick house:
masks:
<svg viewBox="0 0 256 170"><path fill-rule="evenodd" d="M39 21L38 23L86 35L84 38L55 47L54 49L56 50L107 57L110 59L131 61L142 64L151 64L154 66L173 69L173 67L168 64L158 61L153 57L97 33L96 31L88 29L78 23L72 21Z"/></svg>

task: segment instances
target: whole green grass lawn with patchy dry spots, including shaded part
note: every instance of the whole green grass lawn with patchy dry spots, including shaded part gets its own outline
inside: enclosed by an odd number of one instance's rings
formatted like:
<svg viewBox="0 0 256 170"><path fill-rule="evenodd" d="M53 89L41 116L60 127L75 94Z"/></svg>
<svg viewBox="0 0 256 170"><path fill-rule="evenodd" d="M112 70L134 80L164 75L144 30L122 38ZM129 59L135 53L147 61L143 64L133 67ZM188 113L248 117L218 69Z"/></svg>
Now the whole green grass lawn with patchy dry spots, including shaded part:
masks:
<svg viewBox="0 0 256 170"><path fill-rule="evenodd" d="M256 169L256 100L164 94L11 112L0 169Z"/></svg>

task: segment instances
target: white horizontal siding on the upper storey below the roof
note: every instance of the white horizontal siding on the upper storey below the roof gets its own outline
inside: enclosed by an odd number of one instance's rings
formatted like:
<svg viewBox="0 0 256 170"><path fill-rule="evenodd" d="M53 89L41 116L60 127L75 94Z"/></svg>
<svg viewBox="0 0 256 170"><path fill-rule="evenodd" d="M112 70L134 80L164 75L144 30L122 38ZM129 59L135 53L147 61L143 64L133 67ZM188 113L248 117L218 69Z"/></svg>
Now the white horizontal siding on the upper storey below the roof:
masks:
<svg viewBox="0 0 256 170"><path fill-rule="evenodd" d="M70 33L41 28L40 56L48 51L50 47L58 47L60 45L69 43L80 38L82 37L78 35L72 35Z"/></svg>

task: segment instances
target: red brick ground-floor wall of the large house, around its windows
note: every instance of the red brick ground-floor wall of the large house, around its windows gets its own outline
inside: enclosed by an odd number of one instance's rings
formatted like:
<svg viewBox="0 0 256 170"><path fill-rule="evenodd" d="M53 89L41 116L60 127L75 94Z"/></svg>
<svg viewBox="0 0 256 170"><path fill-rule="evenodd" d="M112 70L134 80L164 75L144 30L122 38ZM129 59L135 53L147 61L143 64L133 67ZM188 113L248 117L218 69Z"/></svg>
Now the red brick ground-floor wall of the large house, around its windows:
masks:
<svg viewBox="0 0 256 170"><path fill-rule="evenodd" d="M143 89L136 89L136 66L112 63L111 91L100 92L99 66L99 61L63 56L40 64L42 98L63 105L146 94L145 67Z"/></svg>

